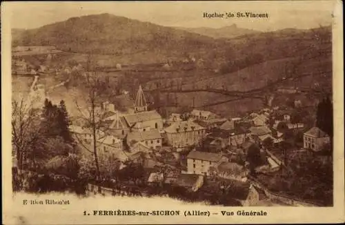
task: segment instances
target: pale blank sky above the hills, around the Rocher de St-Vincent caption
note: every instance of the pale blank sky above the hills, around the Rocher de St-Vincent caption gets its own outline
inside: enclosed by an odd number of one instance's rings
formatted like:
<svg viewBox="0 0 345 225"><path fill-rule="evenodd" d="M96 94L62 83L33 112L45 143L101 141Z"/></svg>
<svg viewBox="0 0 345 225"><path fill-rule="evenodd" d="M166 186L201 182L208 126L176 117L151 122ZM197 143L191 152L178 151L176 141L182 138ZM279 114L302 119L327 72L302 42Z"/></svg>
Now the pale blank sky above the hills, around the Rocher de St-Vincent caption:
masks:
<svg viewBox="0 0 345 225"><path fill-rule="evenodd" d="M271 31L328 26L335 1L51 1L5 2L5 5L5 10L11 12L11 28L39 28L70 17L110 13L161 26L220 28L236 24L242 28ZM208 19L203 17L204 12L268 13L268 19Z"/></svg>

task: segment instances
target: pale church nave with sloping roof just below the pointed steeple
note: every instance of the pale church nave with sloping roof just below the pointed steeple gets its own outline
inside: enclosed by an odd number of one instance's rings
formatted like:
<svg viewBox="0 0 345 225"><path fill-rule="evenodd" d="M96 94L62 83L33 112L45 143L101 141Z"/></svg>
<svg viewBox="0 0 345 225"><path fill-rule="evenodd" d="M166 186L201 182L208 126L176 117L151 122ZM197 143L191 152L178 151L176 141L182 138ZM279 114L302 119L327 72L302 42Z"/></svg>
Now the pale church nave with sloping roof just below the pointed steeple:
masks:
<svg viewBox="0 0 345 225"><path fill-rule="evenodd" d="M132 131L161 130L163 119L156 110L124 115L128 127Z"/></svg>

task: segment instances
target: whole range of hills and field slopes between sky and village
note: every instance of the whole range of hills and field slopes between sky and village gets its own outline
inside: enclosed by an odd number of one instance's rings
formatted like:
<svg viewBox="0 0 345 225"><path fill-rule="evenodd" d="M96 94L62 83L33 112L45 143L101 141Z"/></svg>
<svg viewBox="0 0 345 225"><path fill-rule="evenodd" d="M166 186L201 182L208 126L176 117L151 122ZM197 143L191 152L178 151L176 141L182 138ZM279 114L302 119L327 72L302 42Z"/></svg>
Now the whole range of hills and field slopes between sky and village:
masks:
<svg viewBox="0 0 345 225"><path fill-rule="evenodd" d="M87 53L92 52L103 76L126 77L119 84L110 84L110 93L120 87L133 95L141 84L148 97L156 99L156 104L165 102L171 111L176 110L174 105L190 107L194 104L224 116L237 116L264 107L262 99L255 98L258 95L275 95L275 102L281 104L281 99L288 96L277 92L278 88L304 88L306 94L301 95L307 96L304 97L306 105L313 105L317 100L311 90L314 86L332 88L331 27L213 39L185 30L98 14L25 30L18 36L21 37L14 39L14 43L53 45L64 50L54 59L59 66L68 61L85 63ZM181 63L188 55L194 55L197 61ZM44 63L46 57L26 56L26 59ZM166 59L172 59L169 68L162 67ZM200 65L199 59L202 59ZM121 71L112 70L117 62L124 65ZM268 88L269 85L274 87ZM182 91L178 91L177 86ZM155 89L158 87L177 91L161 92L157 97ZM262 90L251 98L242 99L215 92L188 91L205 88ZM71 90L83 92L77 89L80 88ZM69 91L66 88L63 92L68 96ZM55 92L50 95L57 99L63 97Z"/></svg>

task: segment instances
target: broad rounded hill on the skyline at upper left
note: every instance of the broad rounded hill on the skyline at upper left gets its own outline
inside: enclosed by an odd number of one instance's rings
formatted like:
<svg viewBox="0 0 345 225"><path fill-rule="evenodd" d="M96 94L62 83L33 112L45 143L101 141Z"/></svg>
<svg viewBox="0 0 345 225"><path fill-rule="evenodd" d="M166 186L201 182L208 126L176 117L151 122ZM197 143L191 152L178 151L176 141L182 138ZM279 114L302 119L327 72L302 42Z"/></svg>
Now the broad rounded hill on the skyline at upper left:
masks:
<svg viewBox="0 0 345 225"><path fill-rule="evenodd" d="M218 43L210 37L112 14L72 17L41 28L25 30L13 39L13 46L56 46L66 52L101 55L138 52L181 55L217 48Z"/></svg>

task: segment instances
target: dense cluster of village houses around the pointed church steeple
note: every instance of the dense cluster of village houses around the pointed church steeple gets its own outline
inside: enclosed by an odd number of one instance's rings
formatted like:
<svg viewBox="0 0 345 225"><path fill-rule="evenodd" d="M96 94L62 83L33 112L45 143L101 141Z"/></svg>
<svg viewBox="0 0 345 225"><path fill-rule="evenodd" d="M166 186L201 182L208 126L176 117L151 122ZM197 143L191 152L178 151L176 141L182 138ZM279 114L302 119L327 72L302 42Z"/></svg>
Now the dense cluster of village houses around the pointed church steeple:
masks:
<svg viewBox="0 0 345 225"><path fill-rule="evenodd" d="M296 104L298 106L298 102ZM244 206L309 205L276 197L253 177L280 173L287 168L288 149L277 146L287 138L286 133L304 129L304 124L291 121L288 110L263 108L247 117L226 119L210 111L195 109L185 115L172 113L164 119L157 110L148 110L141 86L127 113L120 113L108 101L95 110L103 121L103 127L97 130L99 163L106 163L104 159L109 157L118 159L120 171L126 170L128 164L139 165L145 171L139 179L149 186L163 189L177 186L188 193L226 190L230 192L228 196ZM83 146L92 146L90 127L72 124L70 130ZM319 157L319 152L331 152L331 149L325 150L330 137L323 130L313 127L303 136L298 152L315 157ZM277 148L281 153L277 153ZM284 145L283 148L291 147ZM325 163L331 160L325 158ZM110 180L112 182L103 188L89 184L88 190L114 195L119 181L115 177ZM217 202L212 197L211 200ZM223 201L223 204L230 203Z"/></svg>

